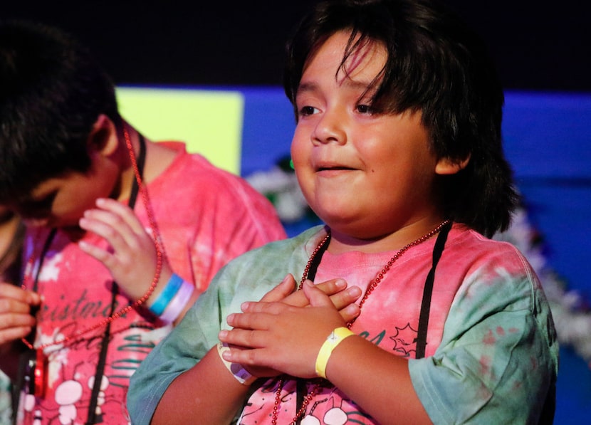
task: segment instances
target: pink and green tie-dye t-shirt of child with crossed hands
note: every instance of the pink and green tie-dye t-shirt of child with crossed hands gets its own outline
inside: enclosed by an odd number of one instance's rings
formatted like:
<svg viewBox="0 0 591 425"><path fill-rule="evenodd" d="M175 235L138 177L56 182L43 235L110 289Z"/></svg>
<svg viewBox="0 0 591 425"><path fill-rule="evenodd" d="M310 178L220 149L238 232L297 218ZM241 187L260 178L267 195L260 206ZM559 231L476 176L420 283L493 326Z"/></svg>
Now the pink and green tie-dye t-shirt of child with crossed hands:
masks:
<svg viewBox="0 0 591 425"><path fill-rule="evenodd" d="M246 253L223 268L132 377L128 408L134 424L150 423L170 382L216 345L219 330L227 327L225 318L239 312L241 303L260 300L287 273L299 280L324 236L324 229L310 229ZM540 283L509 243L454 224L434 277L426 357L414 358L434 243L431 238L409 248L394 263L367 298L352 331L408 359L414 390L435 424L538 423L553 401L558 344ZM325 253L315 282L340 277L366 288L392 255ZM362 359L351 360L351 369L364 366ZM371 385L367 379L362 385ZM287 380L279 395L278 424L291 423L303 397L315 386L303 384L296 393L296 380ZM278 382L261 379L254 385L236 413L237 424L271 424ZM377 423L326 380L300 419L303 425Z"/></svg>

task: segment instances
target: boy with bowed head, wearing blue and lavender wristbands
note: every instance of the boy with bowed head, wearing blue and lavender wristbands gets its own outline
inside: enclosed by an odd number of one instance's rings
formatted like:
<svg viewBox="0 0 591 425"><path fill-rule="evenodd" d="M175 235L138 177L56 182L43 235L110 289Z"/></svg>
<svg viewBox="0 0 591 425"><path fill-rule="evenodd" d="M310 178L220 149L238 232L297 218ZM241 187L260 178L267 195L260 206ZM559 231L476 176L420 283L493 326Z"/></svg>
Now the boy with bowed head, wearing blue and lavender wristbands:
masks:
<svg viewBox="0 0 591 425"><path fill-rule="evenodd" d="M0 282L16 423L128 424L137 365L221 266L283 226L244 179L125 121L58 28L0 24L0 93L0 208L27 227L21 285Z"/></svg>

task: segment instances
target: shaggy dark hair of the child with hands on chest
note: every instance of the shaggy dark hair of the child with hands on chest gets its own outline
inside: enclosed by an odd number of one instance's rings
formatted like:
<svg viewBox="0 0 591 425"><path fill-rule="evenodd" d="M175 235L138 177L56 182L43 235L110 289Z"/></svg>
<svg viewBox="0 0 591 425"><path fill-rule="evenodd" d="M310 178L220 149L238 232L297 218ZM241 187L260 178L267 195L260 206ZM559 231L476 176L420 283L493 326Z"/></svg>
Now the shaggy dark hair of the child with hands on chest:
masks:
<svg viewBox="0 0 591 425"><path fill-rule="evenodd" d="M421 111L439 158L470 157L461 172L440 177L446 217L487 236L506 229L518 195L501 145L503 88L481 38L428 0L322 1L287 43L283 85L294 110L308 58L342 30L351 31L342 64L366 41L387 50L372 99L377 110Z"/></svg>

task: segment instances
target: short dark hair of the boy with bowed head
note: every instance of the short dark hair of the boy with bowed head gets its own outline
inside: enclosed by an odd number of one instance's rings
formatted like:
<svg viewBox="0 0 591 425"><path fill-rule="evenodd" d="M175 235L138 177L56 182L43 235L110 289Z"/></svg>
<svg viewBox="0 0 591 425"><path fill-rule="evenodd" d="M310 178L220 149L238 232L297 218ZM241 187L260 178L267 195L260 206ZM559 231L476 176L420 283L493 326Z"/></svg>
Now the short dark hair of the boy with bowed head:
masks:
<svg viewBox="0 0 591 425"><path fill-rule="evenodd" d="M0 201L88 171L100 114L120 125L115 87L87 48L41 23L0 23Z"/></svg>

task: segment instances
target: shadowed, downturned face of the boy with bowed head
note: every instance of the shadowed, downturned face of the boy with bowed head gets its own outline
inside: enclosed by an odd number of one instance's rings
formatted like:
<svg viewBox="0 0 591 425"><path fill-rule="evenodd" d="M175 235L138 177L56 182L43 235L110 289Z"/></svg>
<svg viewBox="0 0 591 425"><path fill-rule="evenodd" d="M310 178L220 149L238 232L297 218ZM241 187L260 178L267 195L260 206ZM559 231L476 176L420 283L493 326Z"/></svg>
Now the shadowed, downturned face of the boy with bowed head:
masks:
<svg viewBox="0 0 591 425"><path fill-rule="evenodd" d="M31 191L28 199L11 205L28 226L78 229L84 211L93 208L98 197L109 196L117 184L119 170L98 152L91 154L93 164L83 174L69 172L45 180Z"/></svg>

